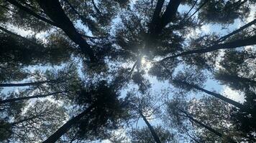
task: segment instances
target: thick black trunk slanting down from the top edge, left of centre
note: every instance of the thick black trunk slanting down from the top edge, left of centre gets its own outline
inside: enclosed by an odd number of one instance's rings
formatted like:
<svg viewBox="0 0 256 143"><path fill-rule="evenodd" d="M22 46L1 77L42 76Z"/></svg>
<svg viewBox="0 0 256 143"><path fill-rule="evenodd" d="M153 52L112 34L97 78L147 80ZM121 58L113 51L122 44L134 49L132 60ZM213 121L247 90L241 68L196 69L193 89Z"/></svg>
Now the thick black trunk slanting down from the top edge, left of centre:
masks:
<svg viewBox="0 0 256 143"><path fill-rule="evenodd" d="M67 36L78 44L81 48L81 51L84 54L88 54L91 61L96 61L96 57L93 54L93 50L91 46L83 39L81 34L76 31L75 26L72 21L68 18L60 6L60 2L58 0L37 0L40 7L45 11L45 14L50 17L52 21L59 25L60 29L62 29Z"/></svg>

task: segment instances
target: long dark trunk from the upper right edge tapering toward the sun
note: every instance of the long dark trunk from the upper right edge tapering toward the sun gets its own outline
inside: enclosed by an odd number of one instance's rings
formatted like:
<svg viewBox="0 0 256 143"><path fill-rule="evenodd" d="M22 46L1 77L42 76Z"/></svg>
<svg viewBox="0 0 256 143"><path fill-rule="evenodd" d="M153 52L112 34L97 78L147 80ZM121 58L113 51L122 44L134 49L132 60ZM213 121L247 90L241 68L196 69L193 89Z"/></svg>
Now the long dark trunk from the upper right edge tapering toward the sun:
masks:
<svg viewBox="0 0 256 143"><path fill-rule="evenodd" d="M231 41L231 42L224 43L224 44L215 44L213 46L209 46L209 47L202 48L202 49L193 49L191 51L184 51L180 54L176 54L176 55L173 55L173 56L168 56L168 57L162 59L161 61L165 61L165 60L168 60L168 59L173 59L173 58L176 58L178 56L185 56L185 55L188 55L188 54L207 53L207 52L216 51L216 50L219 50L219 49L234 49L234 48L237 48L237 47L240 47L240 46L249 46L249 45L254 45L254 44L256 44L256 35L251 36L247 39L238 39L238 40Z"/></svg>

